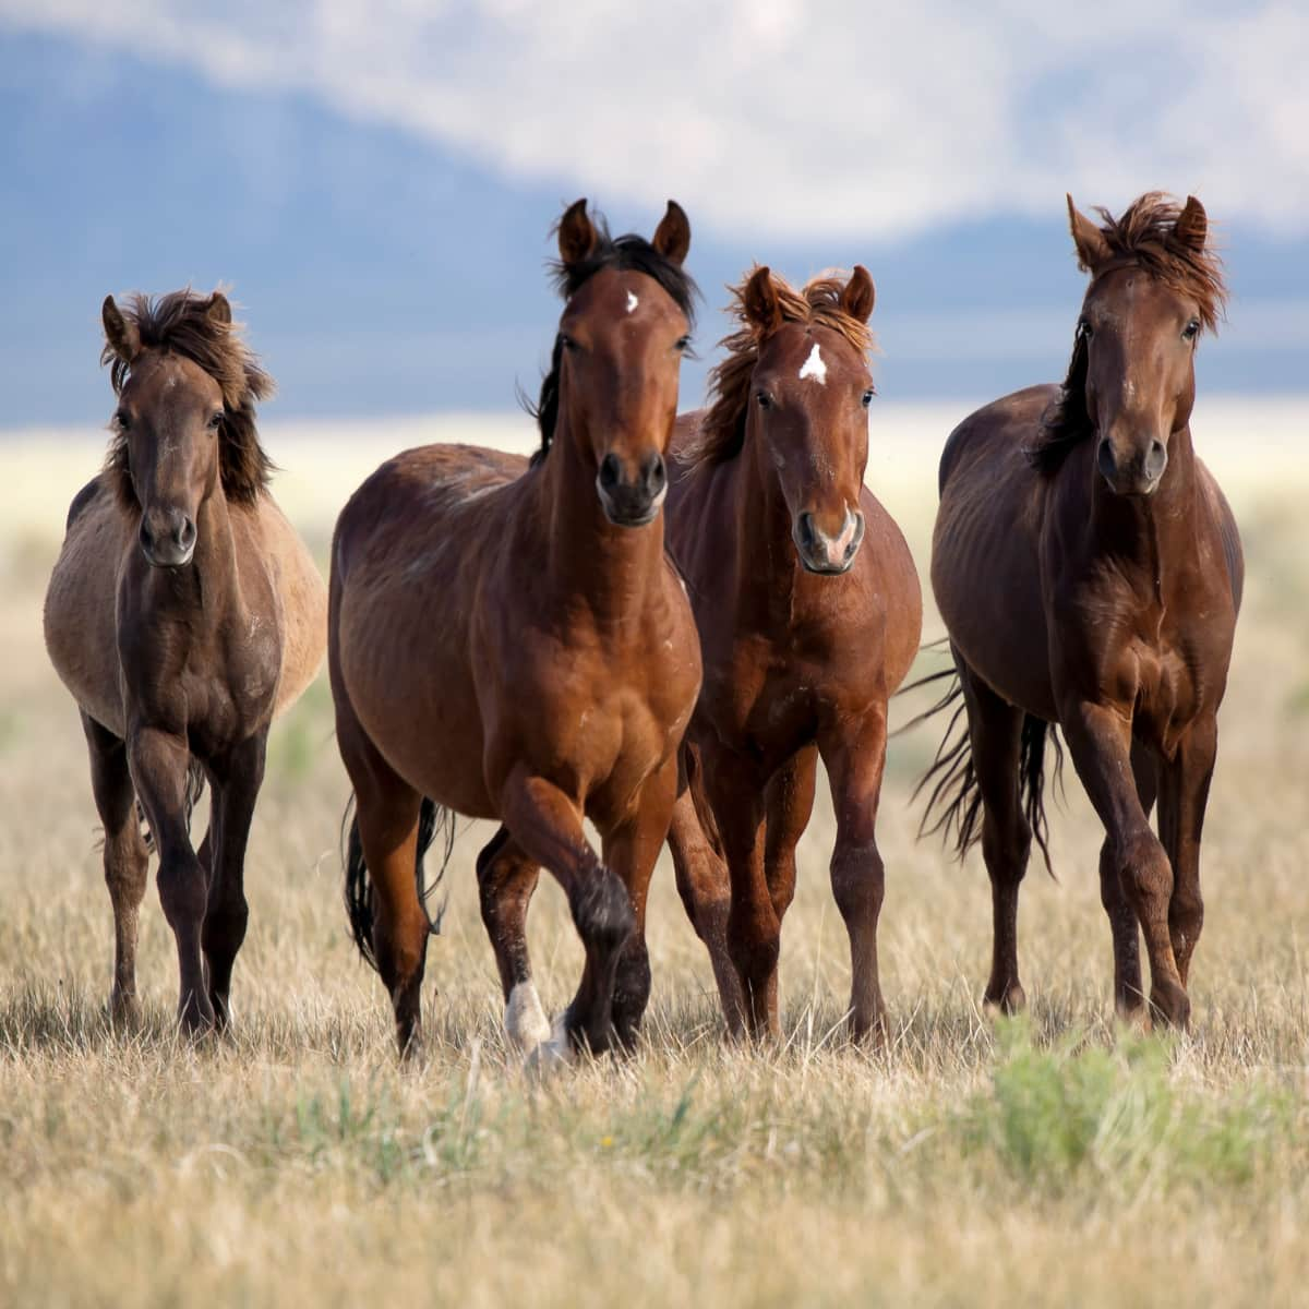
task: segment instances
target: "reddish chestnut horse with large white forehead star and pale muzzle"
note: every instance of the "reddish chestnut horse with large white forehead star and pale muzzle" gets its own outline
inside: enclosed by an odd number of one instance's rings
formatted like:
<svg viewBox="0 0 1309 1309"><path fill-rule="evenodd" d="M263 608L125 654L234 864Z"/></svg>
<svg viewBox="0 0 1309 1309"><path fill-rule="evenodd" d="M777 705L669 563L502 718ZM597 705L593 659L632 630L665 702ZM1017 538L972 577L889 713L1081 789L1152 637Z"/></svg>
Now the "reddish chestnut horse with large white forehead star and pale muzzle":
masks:
<svg viewBox="0 0 1309 1309"><path fill-rule="evenodd" d="M732 1031L778 1029L781 918L821 757L836 810L831 886L850 932L850 1029L880 1034L874 827L886 702L918 649L908 546L864 486L873 284L736 288L708 410L679 420L669 542L700 632L704 687L670 843Z"/></svg>

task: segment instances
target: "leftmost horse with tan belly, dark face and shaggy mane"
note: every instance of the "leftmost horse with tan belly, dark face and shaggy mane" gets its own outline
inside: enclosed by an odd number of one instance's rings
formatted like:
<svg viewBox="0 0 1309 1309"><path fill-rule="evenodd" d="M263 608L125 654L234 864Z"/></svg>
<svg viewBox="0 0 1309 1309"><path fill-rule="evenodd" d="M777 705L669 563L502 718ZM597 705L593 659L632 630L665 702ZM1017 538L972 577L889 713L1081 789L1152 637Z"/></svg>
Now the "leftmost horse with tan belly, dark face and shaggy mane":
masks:
<svg viewBox="0 0 1309 1309"><path fill-rule="evenodd" d="M81 709L114 905L110 1009L135 1020L148 844L177 937L187 1031L230 1021L246 839L274 715L310 682L326 588L267 491L255 401L272 386L215 292L103 306L118 410L105 471L68 511L46 647ZM191 846L208 779L209 831Z"/></svg>

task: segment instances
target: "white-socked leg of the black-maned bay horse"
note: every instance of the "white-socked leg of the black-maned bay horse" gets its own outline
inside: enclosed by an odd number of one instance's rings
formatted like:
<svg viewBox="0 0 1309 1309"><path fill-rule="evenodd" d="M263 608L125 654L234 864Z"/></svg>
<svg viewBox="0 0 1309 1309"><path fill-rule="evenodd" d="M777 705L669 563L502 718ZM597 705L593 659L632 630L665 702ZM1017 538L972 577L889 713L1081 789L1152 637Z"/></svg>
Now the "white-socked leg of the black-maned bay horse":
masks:
<svg viewBox="0 0 1309 1309"><path fill-rule="evenodd" d="M528 906L539 877L539 867L518 848L507 827L501 827L478 855L482 922L491 937L504 991L504 1028L509 1039L526 1051L551 1037L528 954Z"/></svg>

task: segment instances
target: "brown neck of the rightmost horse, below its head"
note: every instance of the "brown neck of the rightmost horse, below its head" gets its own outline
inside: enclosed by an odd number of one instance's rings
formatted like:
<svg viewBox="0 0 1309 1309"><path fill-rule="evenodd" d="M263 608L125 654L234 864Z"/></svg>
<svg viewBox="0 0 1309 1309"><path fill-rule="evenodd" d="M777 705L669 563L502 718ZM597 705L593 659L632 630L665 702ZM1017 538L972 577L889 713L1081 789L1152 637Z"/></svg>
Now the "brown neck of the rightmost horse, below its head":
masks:
<svg viewBox="0 0 1309 1309"><path fill-rule="evenodd" d="M1162 596L1166 579L1195 550L1198 479L1190 424L1169 440L1168 467L1145 499L1114 495L1092 461L1092 530L1105 550L1134 564Z"/></svg>

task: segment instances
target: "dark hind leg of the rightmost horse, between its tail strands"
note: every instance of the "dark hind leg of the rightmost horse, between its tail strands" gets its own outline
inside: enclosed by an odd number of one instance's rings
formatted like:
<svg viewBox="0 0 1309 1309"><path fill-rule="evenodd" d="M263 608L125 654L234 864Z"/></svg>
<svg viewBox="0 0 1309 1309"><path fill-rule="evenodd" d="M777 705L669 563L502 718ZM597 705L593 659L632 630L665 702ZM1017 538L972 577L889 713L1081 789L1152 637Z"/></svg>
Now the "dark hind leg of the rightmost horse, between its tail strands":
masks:
<svg viewBox="0 0 1309 1309"><path fill-rule="evenodd" d="M991 878L991 977L983 1003L1001 1013L1017 1013L1028 1003L1018 980L1018 888L1031 851L1031 827L1020 792L1025 715L996 695L958 654L956 662L982 800L982 857Z"/></svg>

